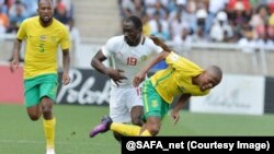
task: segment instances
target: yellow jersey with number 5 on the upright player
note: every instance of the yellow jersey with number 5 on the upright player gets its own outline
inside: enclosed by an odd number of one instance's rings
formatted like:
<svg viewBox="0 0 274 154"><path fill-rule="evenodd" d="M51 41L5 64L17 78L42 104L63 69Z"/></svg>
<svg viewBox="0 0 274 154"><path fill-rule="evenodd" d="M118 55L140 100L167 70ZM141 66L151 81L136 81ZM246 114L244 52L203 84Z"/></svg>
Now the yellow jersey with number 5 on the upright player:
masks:
<svg viewBox="0 0 274 154"><path fill-rule="evenodd" d="M26 40L24 79L57 74L58 47L70 48L69 32L62 23L54 19L52 25L43 27L38 16L30 17L20 25L16 37Z"/></svg>

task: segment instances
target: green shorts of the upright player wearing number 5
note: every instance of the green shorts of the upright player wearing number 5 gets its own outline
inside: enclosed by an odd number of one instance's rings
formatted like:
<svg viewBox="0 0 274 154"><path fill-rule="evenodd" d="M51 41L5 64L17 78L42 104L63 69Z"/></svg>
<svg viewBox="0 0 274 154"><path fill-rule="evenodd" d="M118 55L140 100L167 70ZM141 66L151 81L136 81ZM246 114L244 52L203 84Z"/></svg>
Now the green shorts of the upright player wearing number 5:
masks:
<svg viewBox="0 0 274 154"><path fill-rule="evenodd" d="M46 74L24 80L25 106L31 107L39 104L41 98L44 96L55 100L57 86L57 74Z"/></svg>

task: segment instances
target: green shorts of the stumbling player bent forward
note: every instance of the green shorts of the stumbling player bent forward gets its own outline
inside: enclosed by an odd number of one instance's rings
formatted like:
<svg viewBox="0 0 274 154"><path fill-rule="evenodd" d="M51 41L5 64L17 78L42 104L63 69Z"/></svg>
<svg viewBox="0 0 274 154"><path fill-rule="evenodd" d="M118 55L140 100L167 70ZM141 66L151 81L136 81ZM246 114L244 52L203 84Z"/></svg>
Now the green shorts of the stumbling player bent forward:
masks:
<svg viewBox="0 0 274 154"><path fill-rule="evenodd" d="M148 117L163 118L169 109L170 104L162 99L157 93L150 80L142 84L142 102L144 102L144 120Z"/></svg>

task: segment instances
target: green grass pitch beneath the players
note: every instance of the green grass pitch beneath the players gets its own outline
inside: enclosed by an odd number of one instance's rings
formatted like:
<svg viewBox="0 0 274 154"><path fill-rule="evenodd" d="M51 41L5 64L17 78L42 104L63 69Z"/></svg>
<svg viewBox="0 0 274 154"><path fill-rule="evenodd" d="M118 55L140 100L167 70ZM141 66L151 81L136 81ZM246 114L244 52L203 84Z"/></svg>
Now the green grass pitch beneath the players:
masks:
<svg viewBox="0 0 274 154"><path fill-rule="evenodd" d="M89 131L109 107L55 105L57 118L57 154L119 154L121 146L112 132L89 138ZM182 111L173 126L170 117L163 120L159 135L274 135L274 115L243 116L194 114ZM0 153L43 154L45 141L42 119L33 122L22 105L0 105Z"/></svg>

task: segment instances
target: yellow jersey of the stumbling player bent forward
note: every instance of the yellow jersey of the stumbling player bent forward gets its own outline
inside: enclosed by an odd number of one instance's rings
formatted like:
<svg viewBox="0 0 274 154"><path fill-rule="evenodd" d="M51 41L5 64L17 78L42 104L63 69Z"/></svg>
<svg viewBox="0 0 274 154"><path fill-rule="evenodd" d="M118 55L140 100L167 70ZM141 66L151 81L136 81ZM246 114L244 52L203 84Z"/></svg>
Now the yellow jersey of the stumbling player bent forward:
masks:
<svg viewBox="0 0 274 154"><path fill-rule="evenodd" d="M150 80L167 103L171 104L180 94L202 96L209 93L209 90L202 92L198 85L192 83L192 78L204 71L197 64L173 51L165 58L165 62L169 67L157 71Z"/></svg>

